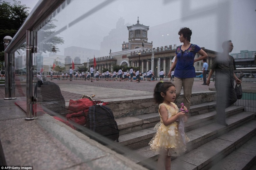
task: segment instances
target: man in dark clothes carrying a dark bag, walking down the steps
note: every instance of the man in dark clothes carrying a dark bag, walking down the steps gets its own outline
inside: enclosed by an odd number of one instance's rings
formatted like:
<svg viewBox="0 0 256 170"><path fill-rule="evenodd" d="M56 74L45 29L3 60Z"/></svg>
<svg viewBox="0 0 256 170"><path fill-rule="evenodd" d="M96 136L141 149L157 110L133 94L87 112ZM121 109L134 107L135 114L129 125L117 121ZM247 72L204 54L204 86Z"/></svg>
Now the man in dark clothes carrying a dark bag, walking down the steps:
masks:
<svg viewBox="0 0 256 170"><path fill-rule="evenodd" d="M227 126L225 108L231 106L237 101L237 94L234 89L234 80L241 84L234 70L236 70L235 60L229 55L233 50L231 40L222 43L223 53L214 58L206 84L210 84L211 75L215 71L215 88L217 91L216 100L216 121L220 125Z"/></svg>

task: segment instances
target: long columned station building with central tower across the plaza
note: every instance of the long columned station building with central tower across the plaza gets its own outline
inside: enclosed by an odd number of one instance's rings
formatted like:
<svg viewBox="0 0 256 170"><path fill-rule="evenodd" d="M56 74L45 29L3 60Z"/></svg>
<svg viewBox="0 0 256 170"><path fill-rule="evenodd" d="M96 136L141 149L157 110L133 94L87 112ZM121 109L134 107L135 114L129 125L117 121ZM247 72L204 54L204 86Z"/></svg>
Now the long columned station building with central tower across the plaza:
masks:
<svg viewBox="0 0 256 170"><path fill-rule="evenodd" d="M177 45L153 48L153 42L147 41L149 26L140 24L139 19L136 24L127 26L127 29L129 32L128 42L124 41L122 43L122 51L113 53L110 51L108 56L97 57L95 70L102 73L102 70L106 68L113 72L113 65L126 65L128 67L138 67L140 65L140 72L147 72L151 69L154 75L159 76L160 70L163 69L163 72L167 75L175 57ZM208 54L207 63L211 65L216 52L204 47L201 48ZM200 55L197 54L195 57L198 58ZM87 62L84 64L87 65ZM93 65L93 59L89 60L88 65ZM202 65L202 61L196 62L194 65L195 71L201 71Z"/></svg>

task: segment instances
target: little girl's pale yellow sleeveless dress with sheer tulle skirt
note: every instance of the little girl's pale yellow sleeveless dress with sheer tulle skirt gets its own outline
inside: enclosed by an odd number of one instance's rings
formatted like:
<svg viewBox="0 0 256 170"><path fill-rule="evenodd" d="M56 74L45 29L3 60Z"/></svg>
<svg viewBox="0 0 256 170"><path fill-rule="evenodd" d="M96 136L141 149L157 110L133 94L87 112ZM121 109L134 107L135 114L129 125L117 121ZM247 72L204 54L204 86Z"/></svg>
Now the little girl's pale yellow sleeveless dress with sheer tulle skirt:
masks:
<svg viewBox="0 0 256 170"><path fill-rule="evenodd" d="M168 112L168 118L171 118L179 112L179 108L177 107L177 105L175 105L174 103L172 104L175 106L175 109L164 103L161 103L158 108L160 109L160 106L164 105ZM159 116L160 122L157 123L154 127L157 132L149 142L150 149L156 154L179 156L180 153L186 151L186 142L189 142L189 138L185 134L183 134L182 136L179 133L178 121L175 121L174 123L166 126L163 124L162 116L160 113Z"/></svg>

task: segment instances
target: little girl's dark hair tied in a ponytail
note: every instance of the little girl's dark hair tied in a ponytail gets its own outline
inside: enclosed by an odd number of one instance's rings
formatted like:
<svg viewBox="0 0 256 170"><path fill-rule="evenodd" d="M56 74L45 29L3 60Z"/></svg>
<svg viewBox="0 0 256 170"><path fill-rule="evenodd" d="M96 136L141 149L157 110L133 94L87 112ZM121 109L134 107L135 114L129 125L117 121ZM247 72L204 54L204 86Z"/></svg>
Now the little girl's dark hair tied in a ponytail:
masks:
<svg viewBox="0 0 256 170"><path fill-rule="evenodd" d="M166 94L167 89L172 86L175 87L175 85L171 82L158 82L154 89L154 102L157 104L163 103L163 97L161 96L161 93Z"/></svg>

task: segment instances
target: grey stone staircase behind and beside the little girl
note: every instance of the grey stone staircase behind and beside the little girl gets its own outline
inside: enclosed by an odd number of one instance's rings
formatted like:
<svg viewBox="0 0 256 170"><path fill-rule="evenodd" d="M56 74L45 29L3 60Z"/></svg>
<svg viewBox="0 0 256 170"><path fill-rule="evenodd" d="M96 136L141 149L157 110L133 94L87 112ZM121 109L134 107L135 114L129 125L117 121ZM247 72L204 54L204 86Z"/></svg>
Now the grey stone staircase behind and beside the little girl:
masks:
<svg viewBox="0 0 256 170"><path fill-rule="evenodd" d="M248 169L256 160L256 113L243 111L243 106L226 109L228 126L219 125L214 118L215 101L191 106L186 135L190 138L187 151L173 157L172 169ZM157 161L148 145L160 121L158 113L139 114L115 119L120 129L119 145L143 156L144 161ZM138 164L139 159L130 158ZM144 166L146 166L144 164Z"/></svg>

